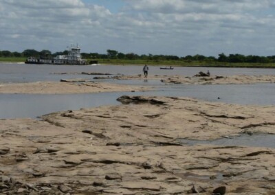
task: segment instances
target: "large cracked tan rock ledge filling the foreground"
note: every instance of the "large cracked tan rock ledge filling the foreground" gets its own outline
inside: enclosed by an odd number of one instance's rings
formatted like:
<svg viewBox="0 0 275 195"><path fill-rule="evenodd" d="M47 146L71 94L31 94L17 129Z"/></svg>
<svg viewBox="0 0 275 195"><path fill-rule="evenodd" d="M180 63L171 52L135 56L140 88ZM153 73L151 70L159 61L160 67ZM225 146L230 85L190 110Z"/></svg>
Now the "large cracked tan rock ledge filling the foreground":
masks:
<svg viewBox="0 0 275 195"><path fill-rule="evenodd" d="M123 96L120 106L1 119L2 194L274 194L275 150L187 146L274 132L274 106Z"/></svg>

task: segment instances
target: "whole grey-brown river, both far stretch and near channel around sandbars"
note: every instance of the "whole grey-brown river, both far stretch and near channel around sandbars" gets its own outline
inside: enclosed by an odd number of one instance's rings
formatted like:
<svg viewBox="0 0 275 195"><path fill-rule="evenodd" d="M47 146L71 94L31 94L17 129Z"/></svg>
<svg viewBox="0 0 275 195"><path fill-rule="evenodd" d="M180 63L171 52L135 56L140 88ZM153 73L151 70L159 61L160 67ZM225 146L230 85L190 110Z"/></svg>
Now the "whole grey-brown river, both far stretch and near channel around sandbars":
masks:
<svg viewBox="0 0 275 195"><path fill-rule="evenodd" d="M149 66L149 74L193 76L199 71L209 70L212 75L270 75L275 69L251 68L206 68L175 67L173 70L161 70ZM25 65L0 63L0 83L36 82L44 80L58 81L64 78L87 78L94 76L81 72L137 75L142 73L142 66L126 65ZM63 74L65 73L65 74ZM98 81L98 80L97 80ZM102 80L106 82L106 80ZM121 84L138 84L155 87L154 91L90 93L90 94L0 94L0 118L39 117L56 111L66 111L85 107L120 104L116 101L121 95L165 95L198 98L212 102L230 104L275 105L275 84L210 84L210 85L166 85L159 80L108 80Z"/></svg>

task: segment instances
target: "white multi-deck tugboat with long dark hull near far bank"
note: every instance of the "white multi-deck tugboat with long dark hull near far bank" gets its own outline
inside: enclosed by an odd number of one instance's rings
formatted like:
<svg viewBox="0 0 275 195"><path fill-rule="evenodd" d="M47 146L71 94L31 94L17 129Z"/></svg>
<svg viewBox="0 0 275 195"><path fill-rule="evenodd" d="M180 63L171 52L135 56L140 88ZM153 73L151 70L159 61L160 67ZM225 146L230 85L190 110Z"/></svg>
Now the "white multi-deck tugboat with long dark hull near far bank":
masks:
<svg viewBox="0 0 275 195"><path fill-rule="evenodd" d="M55 58L34 58L25 60L25 64L48 64L48 65L88 65L85 59L81 58L80 47L71 46L68 55L59 55Z"/></svg>

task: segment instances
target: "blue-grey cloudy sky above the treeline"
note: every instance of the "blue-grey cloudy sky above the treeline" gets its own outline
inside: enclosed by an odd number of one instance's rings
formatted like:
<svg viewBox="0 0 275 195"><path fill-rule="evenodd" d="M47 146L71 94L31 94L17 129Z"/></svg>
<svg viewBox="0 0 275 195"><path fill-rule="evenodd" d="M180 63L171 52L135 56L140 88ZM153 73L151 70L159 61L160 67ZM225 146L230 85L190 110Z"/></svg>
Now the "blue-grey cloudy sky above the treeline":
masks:
<svg viewBox="0 0 275 195"><path fill-rule="evenodd" d="M0 50L275 55L274 0L0 0Z"/></svg>

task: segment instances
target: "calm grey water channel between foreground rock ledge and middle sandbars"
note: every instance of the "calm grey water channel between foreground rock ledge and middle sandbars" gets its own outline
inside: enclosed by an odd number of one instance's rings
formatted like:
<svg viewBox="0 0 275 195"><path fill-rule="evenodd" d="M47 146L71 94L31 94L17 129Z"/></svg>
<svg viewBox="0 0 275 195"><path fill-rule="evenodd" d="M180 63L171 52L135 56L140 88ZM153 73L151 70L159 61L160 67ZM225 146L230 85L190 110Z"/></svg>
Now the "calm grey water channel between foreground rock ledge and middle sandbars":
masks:
<svg viewBox="0 0 275 195"><path fill-rule="evenodd" d="M143 82L143 81L142 81ZM148 80L146 84L151 84ZM55 111L120 104L122 95L159 95L198 98L230 104L275 105L274 84L154 85L153 91L89 94L0 94L0 118L37 117ZM264 94L264 95L263 95ZM218 99L219 97L219 99Z"/></svg>

